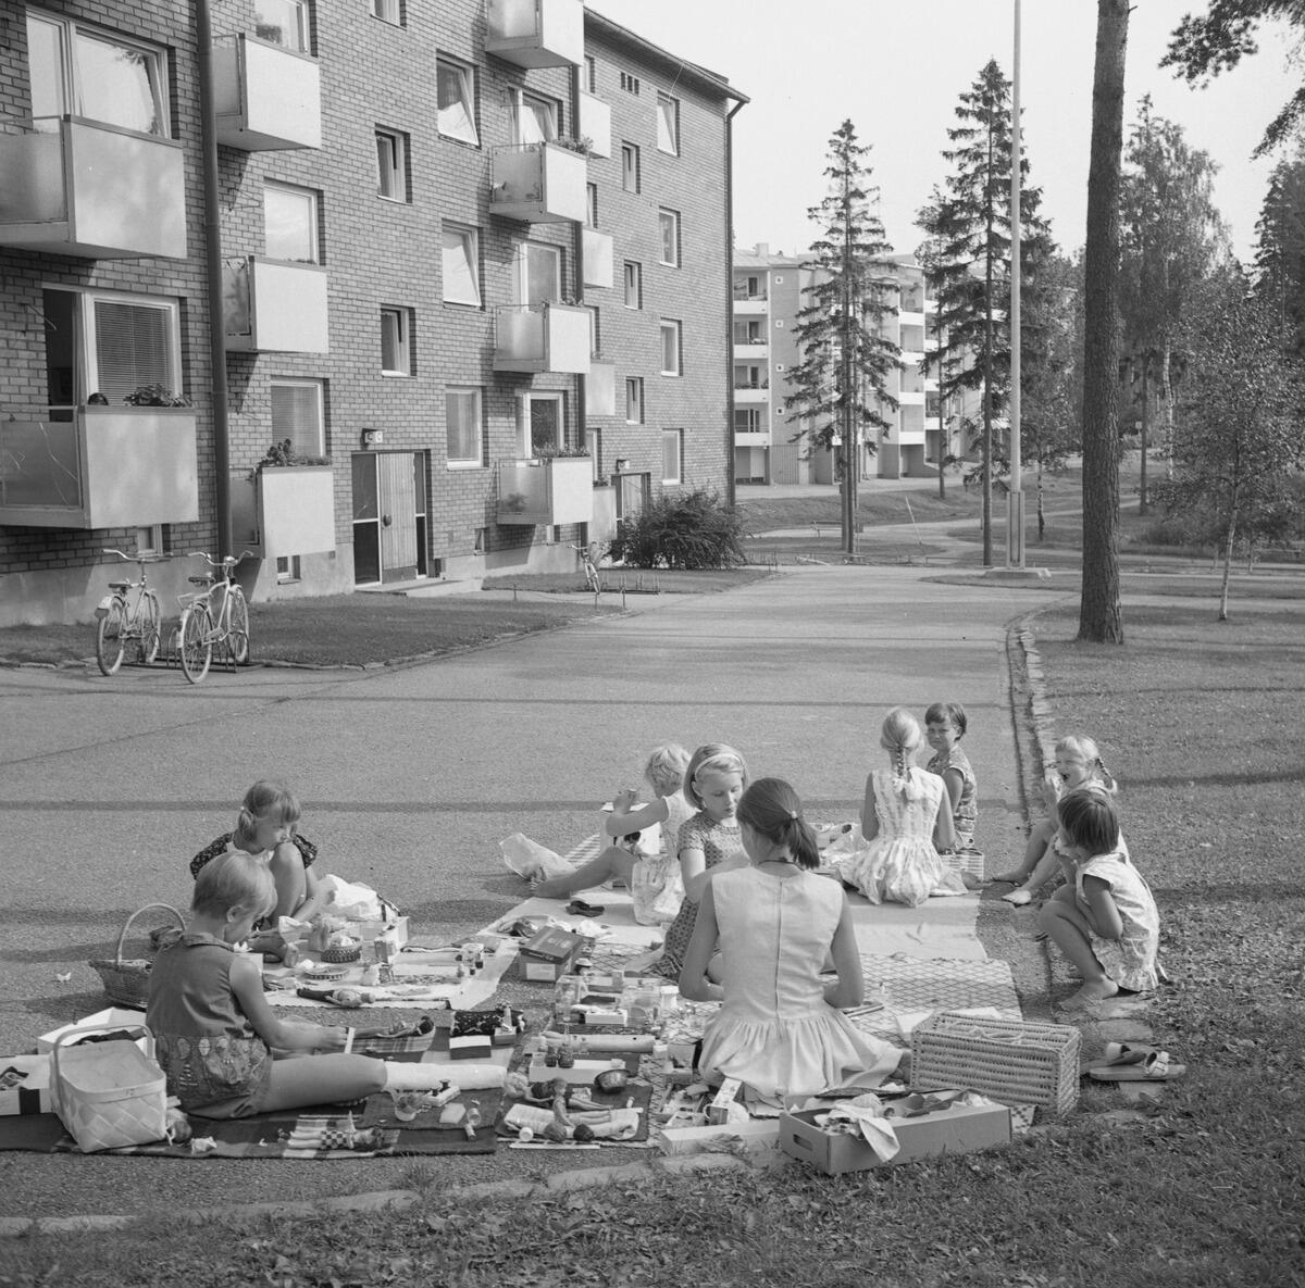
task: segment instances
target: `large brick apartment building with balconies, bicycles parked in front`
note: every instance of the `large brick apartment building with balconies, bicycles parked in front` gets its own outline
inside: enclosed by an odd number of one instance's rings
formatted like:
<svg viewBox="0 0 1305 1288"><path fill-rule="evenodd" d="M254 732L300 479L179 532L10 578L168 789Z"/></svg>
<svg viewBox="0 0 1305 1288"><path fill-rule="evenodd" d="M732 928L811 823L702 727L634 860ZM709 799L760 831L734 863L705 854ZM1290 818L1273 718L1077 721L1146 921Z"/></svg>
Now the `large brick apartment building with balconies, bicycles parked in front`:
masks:
<svg viewBox="0 0 1305 1288"><path fill-rule="evenodd" d="M209 4L0 18L0 623L104 548L425 585L727 490L743 95L581 0Z"/></svg>

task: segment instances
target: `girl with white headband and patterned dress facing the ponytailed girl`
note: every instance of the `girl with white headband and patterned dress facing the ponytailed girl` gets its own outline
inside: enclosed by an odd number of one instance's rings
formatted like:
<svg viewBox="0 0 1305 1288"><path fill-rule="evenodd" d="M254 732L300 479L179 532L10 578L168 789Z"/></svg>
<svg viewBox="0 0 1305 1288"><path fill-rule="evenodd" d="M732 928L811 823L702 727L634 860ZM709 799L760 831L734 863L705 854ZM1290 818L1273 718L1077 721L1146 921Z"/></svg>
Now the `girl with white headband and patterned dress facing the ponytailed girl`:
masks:
<svg viewBox="0 0 1305 1288"><path fill-rule="evenodd" d="M680 978L709 875L718 868L743 867L748 862L735 813L746 786L748 767L733 747L719 742L703 743L689 759L689 768L684 772L684 794L698 807L698 812L680 828L677 842L684 902L667 928L662 957L649 967L654 975Z"/></svg>

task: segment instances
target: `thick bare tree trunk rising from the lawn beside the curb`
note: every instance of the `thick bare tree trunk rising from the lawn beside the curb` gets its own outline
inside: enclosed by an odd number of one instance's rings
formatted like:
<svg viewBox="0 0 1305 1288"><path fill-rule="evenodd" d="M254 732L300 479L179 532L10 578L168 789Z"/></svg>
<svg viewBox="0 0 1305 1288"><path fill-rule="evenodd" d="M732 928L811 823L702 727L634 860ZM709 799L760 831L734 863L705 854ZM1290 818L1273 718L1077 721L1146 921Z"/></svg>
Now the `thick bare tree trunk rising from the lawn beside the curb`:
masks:
<svg viewBox="0 0 1305 1288"><path fill-rule="evenodd" d="M1124 643L1120 607L1120 160L1130 0L1098 0L1087 176L1083 344L1083 591L1078 637Z"/></svg>

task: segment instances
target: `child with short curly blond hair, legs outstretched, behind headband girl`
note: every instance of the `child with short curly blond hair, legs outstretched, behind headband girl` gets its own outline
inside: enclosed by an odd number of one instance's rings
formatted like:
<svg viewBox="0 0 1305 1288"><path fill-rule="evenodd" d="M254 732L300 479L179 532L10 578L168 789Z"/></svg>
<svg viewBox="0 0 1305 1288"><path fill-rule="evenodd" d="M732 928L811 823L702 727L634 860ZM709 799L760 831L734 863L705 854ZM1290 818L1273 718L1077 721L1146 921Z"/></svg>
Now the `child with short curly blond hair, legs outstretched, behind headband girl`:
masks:
<svg viewBox="0 0 1305 1288"><path fill-rule="evenodd" d="M643 767L655 799L641 806L634 787L619 793L603 821L603 833L612 843L574 872L548 880L531 879L531 893L565 900L615 879L629 886L634 897L634 920L643 926L672 920L684 898L676 838L693 813L681 790L688 764L689 754L679 743L655 747Z"/></svg>

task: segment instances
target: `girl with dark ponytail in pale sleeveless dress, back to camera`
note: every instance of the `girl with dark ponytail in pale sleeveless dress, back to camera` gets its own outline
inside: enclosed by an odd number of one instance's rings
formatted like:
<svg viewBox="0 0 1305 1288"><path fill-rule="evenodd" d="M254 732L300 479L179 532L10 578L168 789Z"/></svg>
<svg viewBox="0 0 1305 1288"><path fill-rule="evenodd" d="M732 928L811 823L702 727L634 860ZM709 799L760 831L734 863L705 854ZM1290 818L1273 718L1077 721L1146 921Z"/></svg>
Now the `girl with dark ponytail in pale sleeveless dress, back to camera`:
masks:
<svg viewBox="0 0 1305 1288"><path fill-rule="evenodd" d="M818 867L797 793L761 778L739 802L748 867L707 875L680 992L723 1000L702 1038L702 1073L783 1104L834 1087L878 1086L904 1052L859 1032L839 1006L864 995L847 896ZM713 959L719 940L720 956ZM835 982L821 978L833 956ZM719 974L723 983L709 978Z"/></svg>

